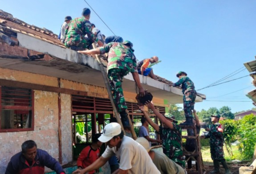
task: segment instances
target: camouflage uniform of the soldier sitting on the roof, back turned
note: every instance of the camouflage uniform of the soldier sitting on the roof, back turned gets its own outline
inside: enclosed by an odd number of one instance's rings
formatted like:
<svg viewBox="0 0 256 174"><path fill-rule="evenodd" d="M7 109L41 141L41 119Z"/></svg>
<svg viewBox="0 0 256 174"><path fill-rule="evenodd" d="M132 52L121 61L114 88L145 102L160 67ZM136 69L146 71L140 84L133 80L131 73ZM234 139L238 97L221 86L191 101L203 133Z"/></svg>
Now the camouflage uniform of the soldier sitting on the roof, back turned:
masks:
<svg viewBox="0 0 256 174"><path fill-rule="evenodd" d="M85 35L88 36L85 37ZM65 30L65 46L88 48L93 42L98 42L98 38L92 33L92 26L89 20L84 16L70 21Z"/></svg>

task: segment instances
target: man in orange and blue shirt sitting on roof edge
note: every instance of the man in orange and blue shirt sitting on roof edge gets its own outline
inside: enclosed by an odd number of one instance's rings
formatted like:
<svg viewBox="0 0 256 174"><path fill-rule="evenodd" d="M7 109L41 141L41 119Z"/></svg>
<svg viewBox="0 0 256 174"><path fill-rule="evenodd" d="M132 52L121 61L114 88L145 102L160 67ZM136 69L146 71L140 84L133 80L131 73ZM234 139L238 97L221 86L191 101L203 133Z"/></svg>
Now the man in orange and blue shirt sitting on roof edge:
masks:
<svg viewBox="0 0 256 174"><path fill-rule="evenodd" d="M151 58L145 58L142 61L137 62L138 73L143 76L149 75L151 78L155 79L153 69L148 68L148 66L149 66L149 63L156 63L156 62L158 62L157 56L153 56Z"/></svg>

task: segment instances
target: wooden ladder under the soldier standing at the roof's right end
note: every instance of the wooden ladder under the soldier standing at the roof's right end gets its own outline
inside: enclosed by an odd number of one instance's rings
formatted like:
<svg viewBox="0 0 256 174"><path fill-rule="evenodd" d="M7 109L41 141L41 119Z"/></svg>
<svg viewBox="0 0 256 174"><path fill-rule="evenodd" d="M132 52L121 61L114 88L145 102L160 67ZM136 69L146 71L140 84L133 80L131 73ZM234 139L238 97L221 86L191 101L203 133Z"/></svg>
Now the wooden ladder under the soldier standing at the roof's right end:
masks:
<svg viewBox="0 0 256 174"><path fill-rule="evenodd" d="M193 159L195 160L196 164L197 164L197 171L187 171L187 174L205 174L206 172L203 173L203 158L202 158L202 153L201 153L201 144L200 144L200 139L199 139L199 135L196 133L196 128L195 125L191 125L191 126L183 126L181 125L182 129L192 129L194 131L194 135L191 136L182 136L183 139L195 139L195 150L194 151L187 151L185 149L185 147L183 147L183 155L185 155L186 157L188 157L188 159L186 160L186 162L189 159ZM205 170L205 169L204 169Z"/></svg>

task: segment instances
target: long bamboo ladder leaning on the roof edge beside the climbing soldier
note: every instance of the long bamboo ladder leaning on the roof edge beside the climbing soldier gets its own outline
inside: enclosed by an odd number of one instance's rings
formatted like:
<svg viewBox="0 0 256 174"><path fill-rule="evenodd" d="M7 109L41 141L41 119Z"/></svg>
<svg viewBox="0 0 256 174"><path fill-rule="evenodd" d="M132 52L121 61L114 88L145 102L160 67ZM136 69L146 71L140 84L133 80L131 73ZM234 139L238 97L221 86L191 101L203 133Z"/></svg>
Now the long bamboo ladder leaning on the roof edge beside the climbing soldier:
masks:
<svg viewBox="0 0 256 174"><path fill-rule="evenodd" d="M93 48L97 48L96 43L93 43L92 45L93 45ZM108 95L109 95L109 98L110 98L111 105L112 105L113 110L114 110L114 115L115 115L115 117L116 117L116 119L117 119L117 121L118 121L118 124L121 125L122 131L123 131L124 134L125 134L125 131L124 131L124 128L123 128L123 125L122 125L122 121L121 121L121 119L120 119L120 117L119 117L118 110L117 110L117 108L116 108L116 106L115 106L115 104L114 104L114 99L113 99L113 96L112 96L112 91L111 91L111 89L110 89L110 84L109 84L109 79L108 79L107 73L106 73L106 71L105 71L105 69L104 69L104 66L103 66L103 64L102 64L102 60L101 60L101 58L99 57L99 55L96 54L95 56L96 56L96 58L97 58L97 61L98 61L99 66L100 66L100 70L101 70L101 72L102 72L102 77L103 77L104 83L105 83L105 85L106 85L106 89L107 89L107 92L108 92ZM136 139L137 139L137 136L136 136L136 134L135 134L134 126L133 126L133 124L131 123L130 116L129 116L129 113L128 113L127 109L126 109L126 113L128 114L128 119L129 119L129 123L130 123L130 126L131 126L132 137L133 137L134 140L136 140Z"/></svg>

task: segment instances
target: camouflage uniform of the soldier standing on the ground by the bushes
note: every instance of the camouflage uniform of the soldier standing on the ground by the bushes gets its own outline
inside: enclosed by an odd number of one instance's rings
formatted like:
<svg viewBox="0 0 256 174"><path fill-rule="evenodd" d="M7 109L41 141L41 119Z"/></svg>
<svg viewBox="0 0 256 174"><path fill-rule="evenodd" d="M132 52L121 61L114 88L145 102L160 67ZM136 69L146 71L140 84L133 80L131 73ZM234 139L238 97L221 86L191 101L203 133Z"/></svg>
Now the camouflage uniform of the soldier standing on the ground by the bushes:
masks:
<svg viewBox="0 0 256 174"><path fill-rule="evenodd" d="M218 128L223 129L223 126L219 122L212 124L211 129L209 132L207 132L205 138L210 138L211 159L222 161L224 159L224 138L222 132L217 130Z"/></svg>

